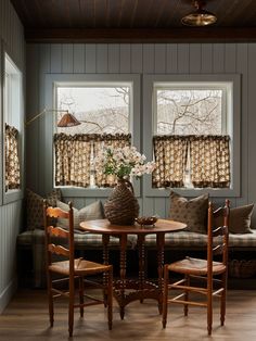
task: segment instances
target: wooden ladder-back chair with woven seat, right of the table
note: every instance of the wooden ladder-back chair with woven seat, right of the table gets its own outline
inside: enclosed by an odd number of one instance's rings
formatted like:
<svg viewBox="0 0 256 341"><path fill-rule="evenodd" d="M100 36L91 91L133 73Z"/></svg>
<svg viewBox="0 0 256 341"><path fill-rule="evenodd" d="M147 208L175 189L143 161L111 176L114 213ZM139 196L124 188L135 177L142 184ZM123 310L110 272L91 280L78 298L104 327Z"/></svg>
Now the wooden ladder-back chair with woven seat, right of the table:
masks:
<svg viewBox="0 0 256 341"><path fill-rule="evenodd" d="M185 257L171 264L164 265L163 292L163 327L166 327L168 303L182 304L184 316L188 316L189 305L207 308L207 330L212 334L213 326L213 298L220 299L220 324L225 324L226 293L228 274L228 237L229 237L229 200L223 207L214 211L213 204L208 206L207 224L207 260ZM217 225L217 226L216 226ZM218 260L214 261L214 256ZM169 273L182 275L182 279L171 283ZM178 289L178 295L171 295L172 289ZM204 300L192 300L192 294L204 295ZM197 298L199 299L199 298Z"/></svg>

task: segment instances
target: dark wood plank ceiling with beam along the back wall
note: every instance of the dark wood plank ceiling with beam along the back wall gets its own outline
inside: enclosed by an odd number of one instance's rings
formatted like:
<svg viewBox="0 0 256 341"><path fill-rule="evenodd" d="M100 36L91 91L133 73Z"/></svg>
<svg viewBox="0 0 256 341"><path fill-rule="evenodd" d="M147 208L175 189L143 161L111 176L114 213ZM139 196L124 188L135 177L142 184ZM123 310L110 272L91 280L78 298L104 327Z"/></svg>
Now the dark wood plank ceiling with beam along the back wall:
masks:
<svg viewBox="0 0 256 341"><path fill-rule="evenodd" d="M185 27L193 0L11 0L28 42L256 41L256 0L205 0L210 27Z"/></svg>

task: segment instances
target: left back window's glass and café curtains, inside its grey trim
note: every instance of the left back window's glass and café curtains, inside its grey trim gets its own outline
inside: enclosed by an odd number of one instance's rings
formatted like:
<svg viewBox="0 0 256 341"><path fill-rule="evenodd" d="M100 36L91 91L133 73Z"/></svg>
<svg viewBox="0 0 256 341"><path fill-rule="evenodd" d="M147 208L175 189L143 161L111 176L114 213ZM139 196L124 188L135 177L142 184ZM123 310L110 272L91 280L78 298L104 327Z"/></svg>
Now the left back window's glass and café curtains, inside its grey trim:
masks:
<svg viewBox="0 0 256 341"><path fill-rule="evenodd" d="M102 148L130 144L131 84L57 86L57 110L74 113L80 125L56 126L55 186L110 187L113 179L95 172ZM61 113L57 119L61 119Z"/></svg>

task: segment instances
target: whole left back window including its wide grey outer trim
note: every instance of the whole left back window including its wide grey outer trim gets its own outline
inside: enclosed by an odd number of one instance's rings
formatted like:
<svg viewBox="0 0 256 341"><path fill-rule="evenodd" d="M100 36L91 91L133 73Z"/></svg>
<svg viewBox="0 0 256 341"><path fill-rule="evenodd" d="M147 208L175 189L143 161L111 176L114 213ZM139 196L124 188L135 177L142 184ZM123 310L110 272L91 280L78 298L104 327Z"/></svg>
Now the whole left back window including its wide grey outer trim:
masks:
<svg viewBox="0 0 256 341"><path fill-rule="evenodd" d="M54 116L52 179L53 186L62 187L65 195L108 195L107 188L114 184L94 171L98 152L106 146L127 144L140 150L139 84L138 75L47 77L47 88L53 88L53 92L47 93L46 106L67 110L80 122L75 127L61 128L57 122L63 113ZM138 194L138 181L135 190Z"/></svg>

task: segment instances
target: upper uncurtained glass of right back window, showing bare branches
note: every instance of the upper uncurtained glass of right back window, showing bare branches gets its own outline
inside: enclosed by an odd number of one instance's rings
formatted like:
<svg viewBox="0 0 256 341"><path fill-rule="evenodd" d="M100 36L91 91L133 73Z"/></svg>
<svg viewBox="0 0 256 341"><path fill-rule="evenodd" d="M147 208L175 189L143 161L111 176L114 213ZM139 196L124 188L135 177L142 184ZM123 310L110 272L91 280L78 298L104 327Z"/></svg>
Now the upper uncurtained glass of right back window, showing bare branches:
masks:
<svg viewBox="0 0 256 341"><path fill-rule="evenodd" d="M157 90L158 135L221 134L222 90Z"/></svg>

